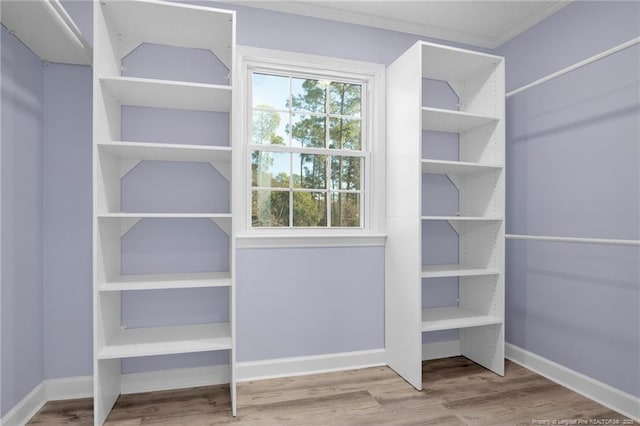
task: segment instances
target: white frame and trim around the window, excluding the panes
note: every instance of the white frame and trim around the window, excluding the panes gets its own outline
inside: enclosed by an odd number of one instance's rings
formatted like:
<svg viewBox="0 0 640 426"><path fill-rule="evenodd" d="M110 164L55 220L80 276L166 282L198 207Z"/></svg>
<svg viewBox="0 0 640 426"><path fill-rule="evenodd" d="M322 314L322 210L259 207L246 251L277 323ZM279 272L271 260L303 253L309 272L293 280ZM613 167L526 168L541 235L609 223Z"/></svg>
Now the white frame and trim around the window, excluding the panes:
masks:
<svg viewBox="0 0 640 426"><path fill-rule="evenodd" d="M238 46L232 111L232 212L237 247L336 247L385 244L385 67L382 64L301 53ZM251 148L249 126L252 105L251 70L285 74L312 74L336 80L359 80L366 87L363 114L365 151L361 203L363 226L358 228L296 228L251 226ZM366 121L366 122L365 122ZM364 129L366 126L366 129ZM365 141L363 141L365 142Z"/></svg>

